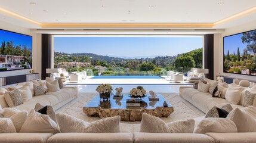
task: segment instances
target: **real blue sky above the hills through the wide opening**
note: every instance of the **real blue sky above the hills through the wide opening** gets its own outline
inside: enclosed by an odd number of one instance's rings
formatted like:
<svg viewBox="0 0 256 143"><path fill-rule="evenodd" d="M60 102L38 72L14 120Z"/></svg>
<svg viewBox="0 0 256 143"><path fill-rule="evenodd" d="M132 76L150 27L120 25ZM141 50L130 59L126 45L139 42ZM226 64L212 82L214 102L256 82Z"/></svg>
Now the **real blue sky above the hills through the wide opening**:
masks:
<svg viewBox="0 0 256 143"><path fill-rule="evenodd" d="M54 51L138 57L177 55L202 48L201 36L190 37L54 37Z"/></svg>

